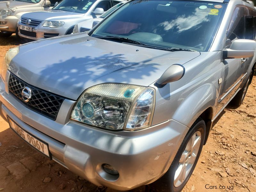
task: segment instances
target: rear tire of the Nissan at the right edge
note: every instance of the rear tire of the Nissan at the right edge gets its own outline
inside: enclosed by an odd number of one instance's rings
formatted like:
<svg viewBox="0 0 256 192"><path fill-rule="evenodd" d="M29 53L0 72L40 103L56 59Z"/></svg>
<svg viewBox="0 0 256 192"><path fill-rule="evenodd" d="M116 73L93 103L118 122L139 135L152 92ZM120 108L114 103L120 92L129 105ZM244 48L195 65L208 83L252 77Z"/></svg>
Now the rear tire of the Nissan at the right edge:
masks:
<svg viewBox="0 0 256 192"><path fill-rule="evenodd" d="M248 90L248 87L250 85L251 79L253 77L253 72L251 71L250 75L248 76L244 86L242 89L236 93L236 96L230 101L230 104L234 107L239 107L244 102L244 97L246 95L246 92Z"/></svg>

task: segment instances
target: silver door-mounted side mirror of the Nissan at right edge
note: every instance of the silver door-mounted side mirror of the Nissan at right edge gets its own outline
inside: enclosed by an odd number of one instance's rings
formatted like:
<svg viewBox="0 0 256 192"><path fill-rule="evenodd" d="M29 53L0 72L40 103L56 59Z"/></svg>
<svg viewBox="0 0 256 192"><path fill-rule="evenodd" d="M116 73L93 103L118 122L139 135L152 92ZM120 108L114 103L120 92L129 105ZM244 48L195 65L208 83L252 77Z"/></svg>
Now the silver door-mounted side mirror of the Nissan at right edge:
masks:
<svg viewBox="0 0 256 192"><path fill-rule="evenodd" d="M246 58L254 56L256 42L248 39L236 39L226 50L223 50L223 59Z"/></svg>

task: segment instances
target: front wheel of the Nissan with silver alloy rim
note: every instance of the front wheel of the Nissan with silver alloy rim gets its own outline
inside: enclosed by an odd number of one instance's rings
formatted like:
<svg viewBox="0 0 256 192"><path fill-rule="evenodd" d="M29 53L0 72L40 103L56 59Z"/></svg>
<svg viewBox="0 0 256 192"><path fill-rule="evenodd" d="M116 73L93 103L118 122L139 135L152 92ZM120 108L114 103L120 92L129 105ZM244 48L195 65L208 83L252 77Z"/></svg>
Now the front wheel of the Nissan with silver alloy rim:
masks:
<svg viewBox="0 0 256 192"><path fill-rule="evenodd" d="M180 192L192 175L205 138L205 122L198 118L191 126L168 171L151 184L160 192Z"/></svg>

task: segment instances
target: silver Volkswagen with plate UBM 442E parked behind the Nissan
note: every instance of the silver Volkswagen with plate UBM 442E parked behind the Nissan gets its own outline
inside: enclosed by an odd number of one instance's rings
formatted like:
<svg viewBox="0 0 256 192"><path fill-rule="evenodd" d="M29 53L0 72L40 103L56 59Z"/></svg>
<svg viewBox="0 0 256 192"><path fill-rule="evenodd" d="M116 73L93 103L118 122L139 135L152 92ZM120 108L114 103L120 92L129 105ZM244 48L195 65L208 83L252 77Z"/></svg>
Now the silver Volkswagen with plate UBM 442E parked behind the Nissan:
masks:
<svg viewBox="0 0 256 192"><path fill-rule="evenodd" d="M63 0L51 10L27 13L19 20L19 36L33 40L68 35L84 20L99 17L122 0Z"/></svg>

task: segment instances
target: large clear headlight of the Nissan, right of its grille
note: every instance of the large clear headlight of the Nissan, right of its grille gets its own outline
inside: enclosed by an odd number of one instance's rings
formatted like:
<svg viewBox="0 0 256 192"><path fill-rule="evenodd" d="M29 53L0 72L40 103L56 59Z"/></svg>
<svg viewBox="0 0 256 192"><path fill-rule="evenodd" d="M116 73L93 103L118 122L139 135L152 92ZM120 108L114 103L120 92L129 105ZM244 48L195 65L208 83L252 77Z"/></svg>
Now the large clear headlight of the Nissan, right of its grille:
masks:
<svg viewBox="0 0 256 192"><path fill-rule="evenodd" d="M111 130L134 131L151 125L155 90L129 84L100 84L87 89L71 119Z"/></svg>

